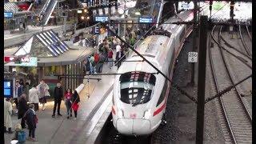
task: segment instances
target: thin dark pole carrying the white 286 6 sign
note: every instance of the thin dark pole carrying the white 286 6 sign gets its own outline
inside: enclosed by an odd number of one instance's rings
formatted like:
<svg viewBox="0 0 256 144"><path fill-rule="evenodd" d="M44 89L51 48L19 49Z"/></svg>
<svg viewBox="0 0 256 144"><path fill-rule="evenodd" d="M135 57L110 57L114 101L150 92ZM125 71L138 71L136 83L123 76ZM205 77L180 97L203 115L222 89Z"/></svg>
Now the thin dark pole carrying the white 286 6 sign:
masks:
<svg viewBox="0 0 256 144"><path fill-rule="evenodd" d="M198 4L194 1L194 25L193 25L193 47L192 51L194 52L197 50L197 12L198 12ZM190 78L190 85L194 86L194 62L191 62L191 78Z"/></svg>

